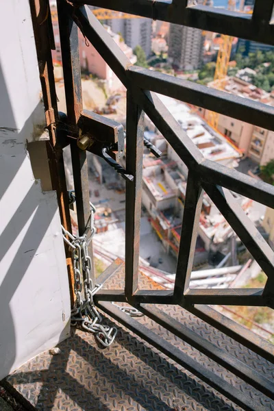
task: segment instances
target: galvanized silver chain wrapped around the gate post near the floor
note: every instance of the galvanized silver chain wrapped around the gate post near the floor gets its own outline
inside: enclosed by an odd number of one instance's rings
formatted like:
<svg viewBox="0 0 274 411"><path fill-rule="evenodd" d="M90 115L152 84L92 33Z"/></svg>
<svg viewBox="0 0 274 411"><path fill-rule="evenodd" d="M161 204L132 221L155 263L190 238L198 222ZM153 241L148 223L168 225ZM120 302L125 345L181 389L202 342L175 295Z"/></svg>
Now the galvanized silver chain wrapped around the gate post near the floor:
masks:
<svg viewBox="0 0 274 411"><path fill-rule="evenodd" d="M117 334L116 327L101 324L102 317L95 308L93 296L103 284L93 286L90 277L92 269L91 258L88 255L88 245L95 234L95 207L90 203L90 219L83 236L73 236L62 226L64 241L71 247L73 257L75 303L71 311L71 323L80 323L82 328L95 333L99 343L104 347L110 346ZM82 282L83 278L83 282ZM84 288L84 300L82 290Z"/></svg>

